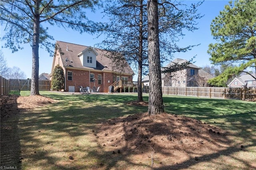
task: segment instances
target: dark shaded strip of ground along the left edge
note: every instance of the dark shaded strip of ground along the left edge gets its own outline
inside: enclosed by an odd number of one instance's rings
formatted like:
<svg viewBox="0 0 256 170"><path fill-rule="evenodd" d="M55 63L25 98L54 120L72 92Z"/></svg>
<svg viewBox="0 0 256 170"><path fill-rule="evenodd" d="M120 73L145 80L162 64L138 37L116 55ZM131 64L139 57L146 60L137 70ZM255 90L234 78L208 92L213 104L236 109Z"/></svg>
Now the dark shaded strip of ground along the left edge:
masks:
<svg viewBox="0 0 256 170"><path fill-rule="evenodd" d="M0 126L0 166L1 169L21 169L18 110L16 95L3 95L1 99L1 126Z"/></svg>

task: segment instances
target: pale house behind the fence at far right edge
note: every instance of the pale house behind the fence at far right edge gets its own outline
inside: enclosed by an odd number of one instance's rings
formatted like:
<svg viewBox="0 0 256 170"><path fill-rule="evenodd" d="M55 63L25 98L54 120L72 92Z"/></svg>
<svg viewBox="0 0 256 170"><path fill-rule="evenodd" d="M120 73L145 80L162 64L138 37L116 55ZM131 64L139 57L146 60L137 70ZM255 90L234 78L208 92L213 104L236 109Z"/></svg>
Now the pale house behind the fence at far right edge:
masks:
<svg viewBox="0 0 256 170"><path fill-rule="evenodd" d="M252 74L256 77L256 74ZM249 74L241 75L238 78L234 78L228 87L256 87L256 80Z"/></svg>

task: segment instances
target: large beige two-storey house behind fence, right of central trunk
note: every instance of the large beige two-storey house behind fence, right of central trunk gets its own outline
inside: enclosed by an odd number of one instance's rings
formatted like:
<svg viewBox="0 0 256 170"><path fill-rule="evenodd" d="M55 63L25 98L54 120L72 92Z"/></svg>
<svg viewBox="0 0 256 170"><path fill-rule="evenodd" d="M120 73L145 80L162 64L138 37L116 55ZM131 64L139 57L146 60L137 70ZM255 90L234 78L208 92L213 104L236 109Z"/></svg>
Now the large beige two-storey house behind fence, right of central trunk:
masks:
<svg viewBox="0 0 256 170"><path fill-rule="evenodd" d="M186 59L174 59L165 67L170 67L174 65L174 63L182 64L187 62ZM181 69L180 71L176 71L173 73L162 73L162 86L171 86L171 87L198 87L202 86L197 82L196 77L203 77L204 81L207 81L210 78L213 78L212 75L206 73L205 71L201 70L194 64L189 64L187 67ZM142 83L144 85L149 85L149 77L146 76L142 79Z"/></svg>

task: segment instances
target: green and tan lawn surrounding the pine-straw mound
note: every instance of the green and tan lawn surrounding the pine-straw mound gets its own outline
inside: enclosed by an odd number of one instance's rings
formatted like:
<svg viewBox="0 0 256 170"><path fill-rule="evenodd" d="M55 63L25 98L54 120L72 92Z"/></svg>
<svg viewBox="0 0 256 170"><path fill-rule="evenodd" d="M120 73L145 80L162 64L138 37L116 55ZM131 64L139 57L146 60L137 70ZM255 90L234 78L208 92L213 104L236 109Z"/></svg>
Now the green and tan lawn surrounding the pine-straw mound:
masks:
<svg viewBox="0 0 256 170"><path fill-rule="evenodd" d="M13 93L27 96L30 91ZM20 145L25 155L22 163L23 169L31 169L31 167L58 170L98 169L100 162L107 161L108 155L98 146L92 130L108 119L144 113L148 109L143 106L126 105L125 103L137 99L136 95L127 93L64 95L64 93L40 91L40 94L59 102L24 111L20 117ZM148 95L144 94L143 99L147 101ZM167 113L217 125L232 134L231 140L246 146L247 152L230 153L229 165L245 156L249 162L256 161L255 102L170 95L164 95L163 100ZM69 160L69 155L76 159ZM227 158L223 156L220 159ZM129 162L122 164L132 167ZM212 167L212 164L207 162L204 164ZM112 168L116 166L113 165ZM214 166L220 169L227 168L223 165ZM198 167L195 165L190 168Z"/></svg>

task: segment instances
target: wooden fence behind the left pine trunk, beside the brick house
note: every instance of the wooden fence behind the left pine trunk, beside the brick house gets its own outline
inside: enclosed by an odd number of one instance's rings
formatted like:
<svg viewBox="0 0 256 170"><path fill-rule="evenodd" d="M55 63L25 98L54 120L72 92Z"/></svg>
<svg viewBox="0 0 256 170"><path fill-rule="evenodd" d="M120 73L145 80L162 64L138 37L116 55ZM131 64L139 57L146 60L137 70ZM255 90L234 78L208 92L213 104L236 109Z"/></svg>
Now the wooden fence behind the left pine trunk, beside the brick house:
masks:
<svg viewBox="0 0 256 170"><path fill-rule="evenodd" d="M22 91L31 89L30 79L10 79L10 91ZM39 80L38 81L39 90L50 90L51 81L50 80Z"/></svg>

